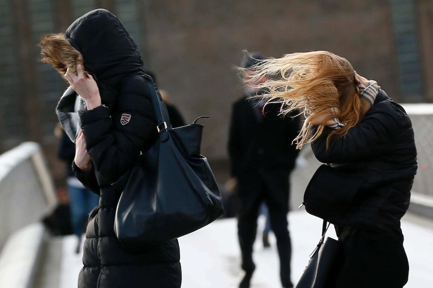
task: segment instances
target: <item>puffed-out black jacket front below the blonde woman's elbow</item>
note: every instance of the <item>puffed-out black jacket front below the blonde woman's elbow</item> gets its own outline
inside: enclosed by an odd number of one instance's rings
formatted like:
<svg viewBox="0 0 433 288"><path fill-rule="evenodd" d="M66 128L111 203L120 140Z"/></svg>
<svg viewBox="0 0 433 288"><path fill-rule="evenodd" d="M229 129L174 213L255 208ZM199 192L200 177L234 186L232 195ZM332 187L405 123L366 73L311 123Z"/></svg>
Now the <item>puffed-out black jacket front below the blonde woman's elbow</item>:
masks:
<svg viewBox="0 0 433 288"><path fill-rule="evenodd" d="M314 216L335 223L356 201L363 178L327 164L320 165L305 189L302 207Z"/></svg>

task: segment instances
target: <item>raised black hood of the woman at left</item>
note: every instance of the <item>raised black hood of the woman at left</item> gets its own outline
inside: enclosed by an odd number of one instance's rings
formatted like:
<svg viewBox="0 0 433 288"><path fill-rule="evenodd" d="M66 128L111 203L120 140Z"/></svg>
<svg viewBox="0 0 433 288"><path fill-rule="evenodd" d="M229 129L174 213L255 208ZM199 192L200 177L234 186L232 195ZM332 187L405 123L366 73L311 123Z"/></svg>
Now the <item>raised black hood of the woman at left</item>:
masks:
<svg viewBox="0 0 433 288"><path fill-rule="evenodd" d="M144 73L136 43L120 20L105 9L75 20L64 37L81 53L85 70L98 83L116 86L126 75Z"/></svg>

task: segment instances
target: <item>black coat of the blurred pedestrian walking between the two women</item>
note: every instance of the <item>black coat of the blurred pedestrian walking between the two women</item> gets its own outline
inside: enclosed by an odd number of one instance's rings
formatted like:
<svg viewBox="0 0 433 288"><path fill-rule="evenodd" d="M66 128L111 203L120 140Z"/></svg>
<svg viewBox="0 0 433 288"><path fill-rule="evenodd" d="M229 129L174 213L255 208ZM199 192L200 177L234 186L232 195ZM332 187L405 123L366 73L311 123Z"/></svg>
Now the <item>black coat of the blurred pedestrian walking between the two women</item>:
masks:
<svg viewBox="0 0 433 288"><path fill-rule="evenodd" d="M272 201L288 209L288 177L299 152L292 141L300 127L298 117L283 118L279 108L269 104L261 116L246 97L233 104L228 150L243 209L256 201L263 185Z"/></svg>

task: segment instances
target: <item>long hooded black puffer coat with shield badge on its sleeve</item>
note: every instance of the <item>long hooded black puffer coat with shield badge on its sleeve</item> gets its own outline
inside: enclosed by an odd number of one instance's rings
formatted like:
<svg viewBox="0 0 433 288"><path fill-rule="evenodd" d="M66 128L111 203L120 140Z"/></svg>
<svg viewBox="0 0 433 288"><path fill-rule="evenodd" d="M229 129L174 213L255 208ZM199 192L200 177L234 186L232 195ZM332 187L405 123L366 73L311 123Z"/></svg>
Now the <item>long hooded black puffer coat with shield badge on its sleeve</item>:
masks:
<svg viewBox="0 0 433 288"><path fill-rule="evenodd" d="M180 287L177 240L141 252L126 250L114 234L116 205L140 151L157 137L156 119L137 46L122 23L98 9L77 19L65 38L97 82L102 106L79 111L93 170L74 167L78 179L100 194L90 213L79 288ZM113 184L114 183L114 184Z"/></svg>

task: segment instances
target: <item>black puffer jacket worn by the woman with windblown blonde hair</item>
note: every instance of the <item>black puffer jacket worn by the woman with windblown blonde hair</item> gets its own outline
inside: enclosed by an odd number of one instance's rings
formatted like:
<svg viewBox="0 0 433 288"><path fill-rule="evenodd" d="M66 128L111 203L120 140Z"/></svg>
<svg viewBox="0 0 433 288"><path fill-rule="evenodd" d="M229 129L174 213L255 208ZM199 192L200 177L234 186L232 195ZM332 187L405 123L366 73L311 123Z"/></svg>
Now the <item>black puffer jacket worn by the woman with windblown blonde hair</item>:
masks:
<svg viewBox="0 0 433 288"><path fill-rule="evenodd" d="M347 136L333 139L327 150L329 132L312 143L316 158L364 178L365 183L346 214L327 220L402 239L400 219L409 207L417 168L412 125L404 109L380 90L361 123Z"/></svg>

